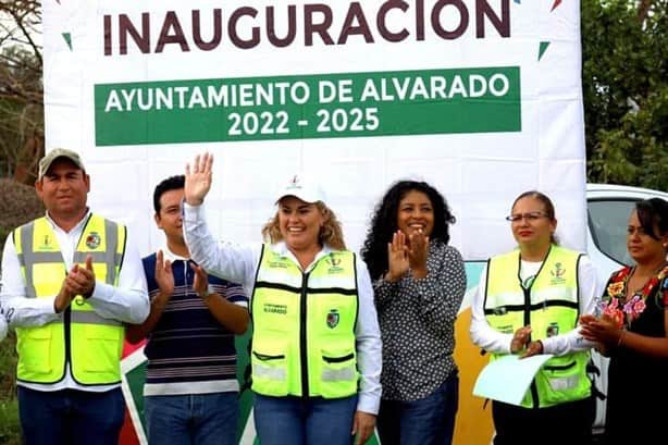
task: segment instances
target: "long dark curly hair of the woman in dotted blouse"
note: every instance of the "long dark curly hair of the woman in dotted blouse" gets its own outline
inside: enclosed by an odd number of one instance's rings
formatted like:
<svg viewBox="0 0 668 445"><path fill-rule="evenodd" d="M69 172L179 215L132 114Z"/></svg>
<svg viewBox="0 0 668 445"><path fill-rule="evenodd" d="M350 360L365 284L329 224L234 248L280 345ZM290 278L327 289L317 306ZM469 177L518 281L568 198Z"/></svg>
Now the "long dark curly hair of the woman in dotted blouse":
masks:
<svg viewBox="0 0 668 445"><path fill-rule="evenodd" d="M413 190L426 195L434 209L434 228L429 237L430 243L447 244L450 240L448 224L455 223L455 215L450 213L443 195L424 182L396 182L376 205L361 249L362 259L367 262L372 280L380 279L387 271L387 243L392 242L392 235L398 228L399 201Z"/></svg>

